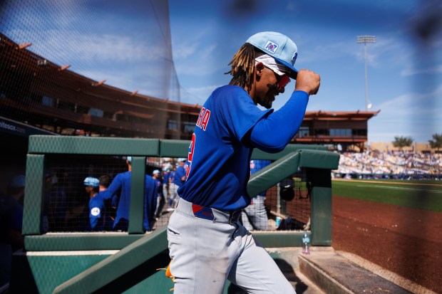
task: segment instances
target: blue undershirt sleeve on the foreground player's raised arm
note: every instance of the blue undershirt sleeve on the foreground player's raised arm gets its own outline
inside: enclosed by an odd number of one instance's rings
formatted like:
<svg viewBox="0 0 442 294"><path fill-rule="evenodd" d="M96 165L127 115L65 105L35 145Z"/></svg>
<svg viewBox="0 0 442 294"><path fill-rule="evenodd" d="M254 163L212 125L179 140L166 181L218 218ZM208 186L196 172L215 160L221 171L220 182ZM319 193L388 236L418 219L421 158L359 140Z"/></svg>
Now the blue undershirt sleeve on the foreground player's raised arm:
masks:
<svg viewBox="0 0 442 294"><path fill-rule="evenodd" d="M282 151L301 126L308 102L307 93L294 91L281 109L257 122L250 132L250 144L264 152Z"/></svg>

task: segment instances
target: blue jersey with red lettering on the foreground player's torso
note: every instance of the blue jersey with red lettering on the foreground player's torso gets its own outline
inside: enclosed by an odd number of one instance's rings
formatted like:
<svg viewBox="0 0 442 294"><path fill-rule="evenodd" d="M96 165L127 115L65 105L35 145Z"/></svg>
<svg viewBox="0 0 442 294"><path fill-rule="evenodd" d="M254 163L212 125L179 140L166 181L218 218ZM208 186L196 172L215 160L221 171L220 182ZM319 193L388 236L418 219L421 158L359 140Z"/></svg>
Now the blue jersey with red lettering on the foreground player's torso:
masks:
<svg viewBox="0 0 442 294"><path fill-rule="evenodd" d="M253 149L242 139L272 112L260 110L244 88L217 88L200 111L189 148L187 181L178 189L180 197L225 211L249 205L246 187Z"/></svg>

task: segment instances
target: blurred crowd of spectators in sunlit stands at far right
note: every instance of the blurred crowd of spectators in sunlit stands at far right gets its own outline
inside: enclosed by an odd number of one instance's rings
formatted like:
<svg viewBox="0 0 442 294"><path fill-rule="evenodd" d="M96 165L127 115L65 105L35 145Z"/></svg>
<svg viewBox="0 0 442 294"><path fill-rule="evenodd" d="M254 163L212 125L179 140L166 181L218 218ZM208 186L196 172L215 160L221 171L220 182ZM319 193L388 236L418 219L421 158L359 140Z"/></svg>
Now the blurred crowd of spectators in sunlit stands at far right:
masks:
<svg viewBox="0 0 442 294"><path fill-rule="evenodd" d="M342 152L334 177L386 177L404 179L441 179L442 154L369 150Z"/></svg>

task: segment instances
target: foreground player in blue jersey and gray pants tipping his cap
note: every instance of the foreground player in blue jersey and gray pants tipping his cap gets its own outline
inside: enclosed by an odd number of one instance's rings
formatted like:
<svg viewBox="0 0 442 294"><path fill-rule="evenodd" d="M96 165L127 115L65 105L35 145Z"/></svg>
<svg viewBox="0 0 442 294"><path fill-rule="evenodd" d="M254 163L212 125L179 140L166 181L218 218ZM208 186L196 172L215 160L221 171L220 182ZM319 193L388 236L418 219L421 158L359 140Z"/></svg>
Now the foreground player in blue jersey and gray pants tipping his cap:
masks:
<svg viewBox="0 0 442 294"><path fill-rule="evenodd" d="M253 148L279 152L304 119L319 75L294 68L297 46L287 36L251 36L233 56L229 85L203 105L189 147L187 180L170 216L170 274L175 294L222 293L226 279L247 293L295 293L267 251L238 221L250 204ZM290 78L294 93L278 111L275 96ZM267 108L260 110L257 104Z"/></svg>

